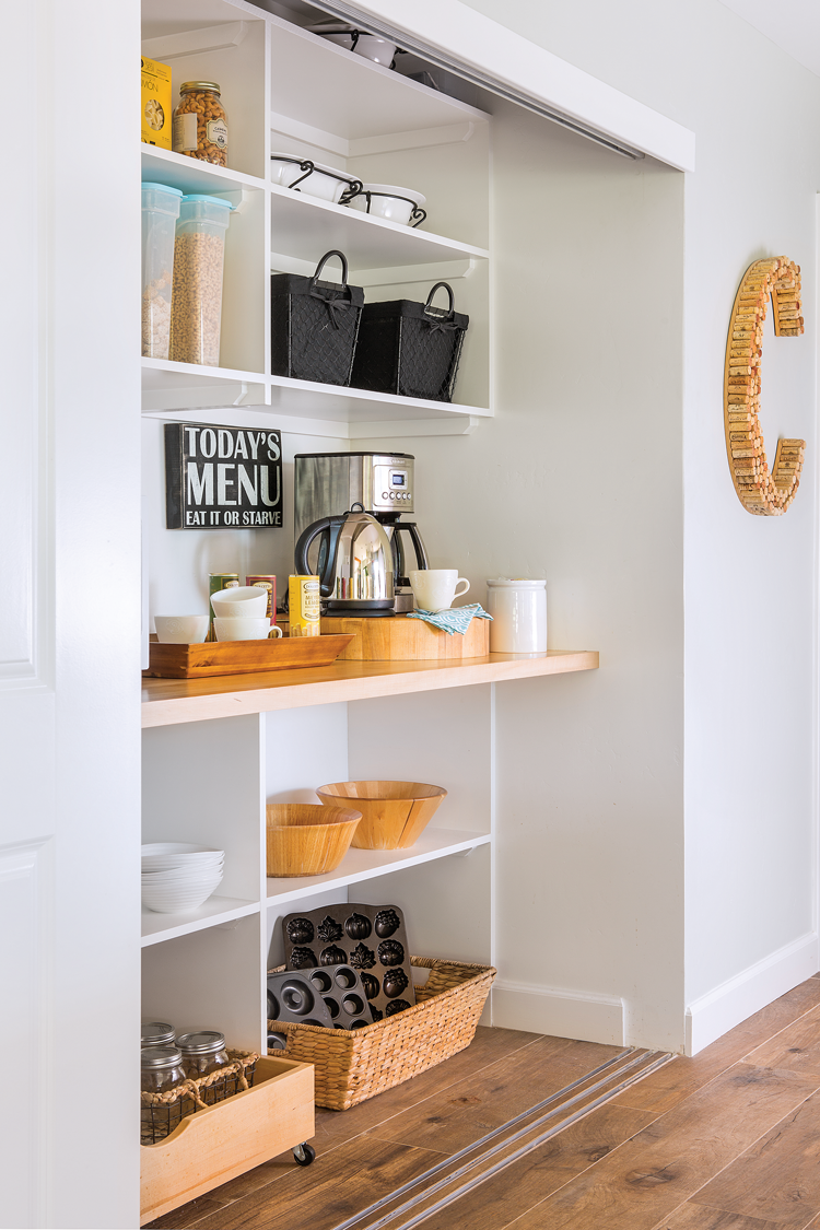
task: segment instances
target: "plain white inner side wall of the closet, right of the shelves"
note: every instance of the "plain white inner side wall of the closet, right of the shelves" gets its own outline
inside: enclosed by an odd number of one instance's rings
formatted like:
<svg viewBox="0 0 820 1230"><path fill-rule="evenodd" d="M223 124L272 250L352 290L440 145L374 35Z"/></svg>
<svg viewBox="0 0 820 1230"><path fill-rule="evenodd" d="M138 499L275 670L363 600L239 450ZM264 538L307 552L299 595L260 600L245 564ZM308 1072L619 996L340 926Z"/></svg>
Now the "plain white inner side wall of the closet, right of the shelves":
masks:
<svg viewBox="0 0 820 1230"><path fill-rule="evenodd" d="M675 1048L684 177L494 117L497 418L396 446L433 566L481 601L487 577L546 577L551 647L602 667L495 689L493 1020Z"/></svg>

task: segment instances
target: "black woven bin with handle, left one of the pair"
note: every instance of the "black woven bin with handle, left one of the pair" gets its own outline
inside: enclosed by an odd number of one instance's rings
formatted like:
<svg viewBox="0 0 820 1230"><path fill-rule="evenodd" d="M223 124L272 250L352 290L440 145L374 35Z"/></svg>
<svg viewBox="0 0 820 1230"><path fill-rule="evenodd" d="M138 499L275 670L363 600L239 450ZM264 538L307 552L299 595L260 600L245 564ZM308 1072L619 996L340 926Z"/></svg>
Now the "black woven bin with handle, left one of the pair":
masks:
<svg viewBox="0 0 820 1230"><path fill-rule="evenodd" d="M342 285L320 282L326 261L338 256ZM326 252L312 278L274 273L270 278L270 371L274 376L350 384L364 290L349 287L342 252Z"/></svg>

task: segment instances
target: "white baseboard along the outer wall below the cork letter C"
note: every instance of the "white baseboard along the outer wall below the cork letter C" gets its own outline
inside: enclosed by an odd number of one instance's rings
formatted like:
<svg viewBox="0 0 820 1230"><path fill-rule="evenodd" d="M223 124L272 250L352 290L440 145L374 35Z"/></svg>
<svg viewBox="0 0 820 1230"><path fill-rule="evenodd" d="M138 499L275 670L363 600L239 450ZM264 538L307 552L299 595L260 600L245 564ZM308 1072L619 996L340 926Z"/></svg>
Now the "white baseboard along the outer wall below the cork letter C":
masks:
<svg viewBox="0 0 820 1230"><path fill-rule="evenodd" d="M811 931L702 995L686 1009L686 1054L696 1055L819 968L818 935Z"/></svg>

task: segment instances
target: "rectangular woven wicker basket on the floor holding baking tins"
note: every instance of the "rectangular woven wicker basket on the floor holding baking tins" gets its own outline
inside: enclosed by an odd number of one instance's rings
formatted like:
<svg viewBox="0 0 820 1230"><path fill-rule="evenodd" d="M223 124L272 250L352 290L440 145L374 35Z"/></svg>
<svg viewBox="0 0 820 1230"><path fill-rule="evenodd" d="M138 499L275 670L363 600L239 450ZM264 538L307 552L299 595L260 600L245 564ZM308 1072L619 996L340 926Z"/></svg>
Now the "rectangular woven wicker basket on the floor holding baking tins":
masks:
<svg viewBox="0 0 820 1230"><path fill-rule="evenodd" d="M269 1030L288 1037L284 1050L269 1054L315 1064L317 1106L347 1111L450 1059L472 1042L495 977L493 967L434 957L411 957L411 962L429 969L430 977L416 988L416 1006L396 1016L363 1030L268 1021Z"/></svg>

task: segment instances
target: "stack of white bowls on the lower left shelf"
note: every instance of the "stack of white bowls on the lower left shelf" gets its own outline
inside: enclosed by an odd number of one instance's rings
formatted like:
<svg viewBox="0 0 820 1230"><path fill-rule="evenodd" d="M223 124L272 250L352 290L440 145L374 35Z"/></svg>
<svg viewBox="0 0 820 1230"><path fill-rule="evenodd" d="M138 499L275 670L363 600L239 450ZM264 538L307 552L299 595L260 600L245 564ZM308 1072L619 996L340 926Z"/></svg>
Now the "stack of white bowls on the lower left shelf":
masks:
<svg viewBox="0 0 820 1230"><path fill-rule="evenodd" d="M189 914L219 888L225 851L189 841L143 846L143 905L157 914Z"/></svg>

